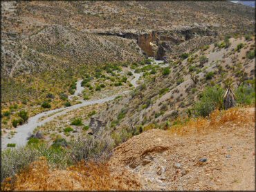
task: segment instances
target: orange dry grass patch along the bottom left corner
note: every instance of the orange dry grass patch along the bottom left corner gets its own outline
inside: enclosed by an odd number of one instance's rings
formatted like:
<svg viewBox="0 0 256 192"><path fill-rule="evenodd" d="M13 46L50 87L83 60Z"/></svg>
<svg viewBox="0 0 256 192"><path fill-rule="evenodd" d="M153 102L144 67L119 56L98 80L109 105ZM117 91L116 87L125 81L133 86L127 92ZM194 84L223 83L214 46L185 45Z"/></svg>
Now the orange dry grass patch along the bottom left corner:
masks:
<svg viewBox="0 0 256 192"><path fill-rule="evenodd" d="M125 175L125 174L124 174ZM111 175L108 164L81 161L66 170L51 171L45 157L30 164L29 168L7 178L3 184L4 191L109 191L138 189L136 180Z"/></svg>

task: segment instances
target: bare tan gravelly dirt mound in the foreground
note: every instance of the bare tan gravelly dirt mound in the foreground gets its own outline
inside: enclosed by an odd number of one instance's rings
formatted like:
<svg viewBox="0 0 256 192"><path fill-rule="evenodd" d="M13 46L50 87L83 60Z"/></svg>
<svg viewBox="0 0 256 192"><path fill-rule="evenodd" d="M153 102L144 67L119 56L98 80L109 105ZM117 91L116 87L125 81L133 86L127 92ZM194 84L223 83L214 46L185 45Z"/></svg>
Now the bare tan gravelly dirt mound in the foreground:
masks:
<svg viewBox="0 0 256 192"><path fill-rule="evenodd" d="M233 119L197 134L142 133L115 149L112 169L138 174L144 190L253 190L254 111L243 113L247 122Z"/></svg>

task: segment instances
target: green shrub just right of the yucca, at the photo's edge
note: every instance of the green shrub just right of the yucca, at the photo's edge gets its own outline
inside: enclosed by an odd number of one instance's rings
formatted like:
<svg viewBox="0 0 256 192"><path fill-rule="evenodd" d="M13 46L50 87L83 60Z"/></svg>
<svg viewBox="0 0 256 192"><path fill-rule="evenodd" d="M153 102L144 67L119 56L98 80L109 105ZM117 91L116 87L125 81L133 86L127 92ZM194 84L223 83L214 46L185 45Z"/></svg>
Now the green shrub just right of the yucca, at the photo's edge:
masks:
<svg viewBox="0 0 256 192"><path fill-rule="evenodd" d="M235 91L238 104L253 104L255 103L255 88L248 84L241 85Z"/></svg>

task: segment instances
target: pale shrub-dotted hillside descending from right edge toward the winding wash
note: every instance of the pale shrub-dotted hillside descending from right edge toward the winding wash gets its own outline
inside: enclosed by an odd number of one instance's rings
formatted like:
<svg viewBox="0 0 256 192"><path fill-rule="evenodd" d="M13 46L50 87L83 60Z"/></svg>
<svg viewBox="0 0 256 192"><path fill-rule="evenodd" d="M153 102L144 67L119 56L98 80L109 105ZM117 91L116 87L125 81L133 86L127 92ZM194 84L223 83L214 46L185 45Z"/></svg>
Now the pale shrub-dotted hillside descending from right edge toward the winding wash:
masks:
<svg viewBox="0 0 256 192"><path fill-rule="evenodd" d="M169 75L158 71L140 84L129 97L109 105L107 110L95 118L110 127L113 124L113 127L135 129L150 124L158 126L178 116L187 115L188 109L194 106L194 102L200 98L201 92L207 86L223 86L223 80L232 77L234 88L237 88L244 81L253 79L255 57L249 59L247 56L248 52L255 49L254 40L231 38L229 42L228 48L219 48L217 44L212 44L191 53L187 59L171 61L167 67L170 68ZM238 51L239 44L243 48ZM196 77L194 81L193 77ZM124 112L119 120L118 115Z"/></svg>

